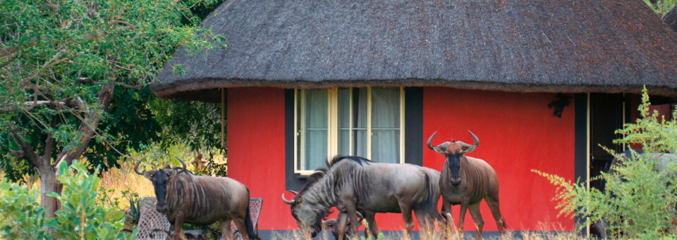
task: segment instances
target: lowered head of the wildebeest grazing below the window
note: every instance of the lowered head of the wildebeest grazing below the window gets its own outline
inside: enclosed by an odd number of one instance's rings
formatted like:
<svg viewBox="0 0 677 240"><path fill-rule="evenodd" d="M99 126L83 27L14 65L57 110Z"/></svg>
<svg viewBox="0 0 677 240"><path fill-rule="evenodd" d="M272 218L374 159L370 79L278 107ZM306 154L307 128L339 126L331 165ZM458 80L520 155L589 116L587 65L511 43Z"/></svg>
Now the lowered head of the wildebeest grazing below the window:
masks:
<svg viewBox="0 0 677 240"><path fill-rule="evenodd" d="M296 220L299 229L304 234L310 234L311 237L315 237L317 232L322 229L322 219L325 215L320 210L322 206L310 201L304 201L301 195L295 191L291 192L296 196L291 200L287 200L284 198L284 194L282 194L282 201L291 206L291 215Z"/></svg>

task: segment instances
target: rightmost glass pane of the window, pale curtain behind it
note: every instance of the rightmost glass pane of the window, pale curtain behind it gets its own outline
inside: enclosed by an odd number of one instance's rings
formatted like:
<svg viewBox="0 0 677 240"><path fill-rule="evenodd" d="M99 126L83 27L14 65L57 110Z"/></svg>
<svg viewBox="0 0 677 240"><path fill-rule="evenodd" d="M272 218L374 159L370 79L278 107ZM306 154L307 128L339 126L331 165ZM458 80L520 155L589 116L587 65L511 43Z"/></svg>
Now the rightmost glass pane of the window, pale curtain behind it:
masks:
<svg viewBox="0 0 677 240"><path fill-rule="evenodd" d="M400 89L372 88L372 160L400 162Z"/></svg>

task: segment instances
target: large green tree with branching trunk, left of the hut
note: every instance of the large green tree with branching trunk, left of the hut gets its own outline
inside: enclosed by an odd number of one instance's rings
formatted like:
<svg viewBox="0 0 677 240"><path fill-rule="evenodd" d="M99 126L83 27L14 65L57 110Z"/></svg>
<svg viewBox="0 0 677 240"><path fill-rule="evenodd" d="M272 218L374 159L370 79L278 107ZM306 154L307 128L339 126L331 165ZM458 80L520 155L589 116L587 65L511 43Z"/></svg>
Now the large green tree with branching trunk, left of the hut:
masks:
<svg viewBox="0 0 677 240"><path fill-rule="evenodd" d="M102 127L102 122L129 124L111 120L115 110L128 107L111 108L116 96L137 98L147 91L145 85L181 44L189 53L225 46L222 37L198 28L200 18L190 11L212 3L0 2L1 161L39 175L47 218L57 208L47 192L61 193L59 163L70 165L83 156L92 140L112 151L127 141L128 133L116 132L116 125Z"/></svg>

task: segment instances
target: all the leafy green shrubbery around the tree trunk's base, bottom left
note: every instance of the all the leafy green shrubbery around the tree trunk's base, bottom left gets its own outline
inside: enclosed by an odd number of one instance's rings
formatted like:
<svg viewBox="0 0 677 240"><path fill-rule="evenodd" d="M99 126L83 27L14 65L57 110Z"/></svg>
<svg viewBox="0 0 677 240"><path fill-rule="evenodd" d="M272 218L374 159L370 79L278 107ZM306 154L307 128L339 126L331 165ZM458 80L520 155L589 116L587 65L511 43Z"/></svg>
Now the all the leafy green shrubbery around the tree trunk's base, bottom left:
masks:
<svg viewBox="0 0 677 240"><path fill-rule="evenodd" d="M56 217L44 220L44 209L39 207L37 189L10 184L0 180L0 238L5 239L133 239L124 234L125 213L114 207L99 204L99 178L89 175L85 164L73 161L59 165L63 184L59 199L61 209ZM51 232L45 231L50 228Z"/></svg>

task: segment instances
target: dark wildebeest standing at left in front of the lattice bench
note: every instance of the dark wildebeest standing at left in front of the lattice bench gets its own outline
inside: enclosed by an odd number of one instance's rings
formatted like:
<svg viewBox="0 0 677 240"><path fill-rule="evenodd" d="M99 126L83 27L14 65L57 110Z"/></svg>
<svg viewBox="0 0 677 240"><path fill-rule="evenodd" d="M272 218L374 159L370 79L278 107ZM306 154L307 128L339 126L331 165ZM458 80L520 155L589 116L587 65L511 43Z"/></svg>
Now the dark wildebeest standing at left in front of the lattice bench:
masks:
<svg viewBox="0 0 677 240"><path fill-rule="evenodd" d="M178 159L178 158L177 158ZM258 239L254 234L249 214L249 189L229 177L193 175L183 168L161 170L138 170L141 160L134 165L134 172L153 183L157 197L156 209L167 215L174 227L172 239L185 239L181 224L211 225L219 221L226 239L234 239L231 220L245 239Z"/></svg>

